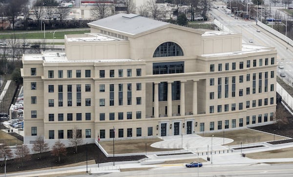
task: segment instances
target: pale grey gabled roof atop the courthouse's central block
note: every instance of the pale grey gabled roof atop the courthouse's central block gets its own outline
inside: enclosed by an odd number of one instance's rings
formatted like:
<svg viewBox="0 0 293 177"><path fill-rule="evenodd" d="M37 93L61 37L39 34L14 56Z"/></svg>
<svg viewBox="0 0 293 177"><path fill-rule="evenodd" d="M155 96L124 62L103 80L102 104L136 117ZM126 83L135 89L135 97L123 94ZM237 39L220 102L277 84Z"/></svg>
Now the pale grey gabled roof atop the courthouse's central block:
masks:
<svg viewBox="0 0 293 177"><path fill-rule="evenodd" d="M105 29L115 30L129 35L137 35L146 31L156 29L162 26L166 26L170 23L158 20L152 20L145 17L141 17L136 14L124 14L120 13L89 22L91 27L102 27Z"/></svg>

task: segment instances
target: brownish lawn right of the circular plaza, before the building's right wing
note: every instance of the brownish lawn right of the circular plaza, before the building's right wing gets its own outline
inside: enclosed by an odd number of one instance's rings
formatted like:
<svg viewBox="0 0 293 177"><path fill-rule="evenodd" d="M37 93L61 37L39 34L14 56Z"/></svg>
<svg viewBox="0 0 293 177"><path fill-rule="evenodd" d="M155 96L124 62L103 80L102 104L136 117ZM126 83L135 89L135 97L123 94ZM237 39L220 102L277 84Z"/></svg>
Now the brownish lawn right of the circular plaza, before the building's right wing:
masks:
<svg viewBox="0 0 293 177"><path fill-rule="evenodd" d="M202 134L199 134L202 136ZM223 132L216 133L205 133L204 137L223 137ZM275 140L286 139L280 136L275 135ZM225 131L225 138L234 139L233 142L225 144L225 146L237 145L237 144L249 144L255 142L266 142L273 141L273 135L263 132L254 131L251 129L243 129L243 130L233 130L233 131Z"/></svg>

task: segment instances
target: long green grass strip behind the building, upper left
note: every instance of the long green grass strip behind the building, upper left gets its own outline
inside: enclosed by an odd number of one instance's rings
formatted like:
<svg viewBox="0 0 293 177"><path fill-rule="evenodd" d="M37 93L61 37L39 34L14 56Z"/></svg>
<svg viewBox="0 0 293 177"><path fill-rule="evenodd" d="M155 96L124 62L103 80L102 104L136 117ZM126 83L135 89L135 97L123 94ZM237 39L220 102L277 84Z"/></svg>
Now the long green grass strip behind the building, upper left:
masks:
<svg viewBox="0 0 293 177"><path fill-rule="evenodd" d="M72 35L72 34L84 34L89 33L90 30L81 30L81 31L56 31L54 38L55 39L64 39L64 35ZM35 33L25 33L25 34L15 34L17 39L44 39L44 33L40 31L36 31ZM53 32L46 32L45 39L53 39ZM11 39L12 34L10 35L0 35L0 39Z"/></svg>

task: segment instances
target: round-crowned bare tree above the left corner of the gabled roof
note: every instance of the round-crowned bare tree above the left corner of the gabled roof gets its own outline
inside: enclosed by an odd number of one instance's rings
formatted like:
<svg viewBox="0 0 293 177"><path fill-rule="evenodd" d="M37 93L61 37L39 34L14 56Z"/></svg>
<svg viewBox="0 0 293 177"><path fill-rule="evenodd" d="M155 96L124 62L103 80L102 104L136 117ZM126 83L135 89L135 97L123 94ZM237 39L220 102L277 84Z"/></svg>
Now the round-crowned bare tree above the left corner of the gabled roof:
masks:
<svg viewBox="0 0 293 177"><path fill-rule="evenodd" d="M104 19L110 14L110 7L105 2L95 3L95 6L90 9L91 16L94 17L95 20Z"/></svg>

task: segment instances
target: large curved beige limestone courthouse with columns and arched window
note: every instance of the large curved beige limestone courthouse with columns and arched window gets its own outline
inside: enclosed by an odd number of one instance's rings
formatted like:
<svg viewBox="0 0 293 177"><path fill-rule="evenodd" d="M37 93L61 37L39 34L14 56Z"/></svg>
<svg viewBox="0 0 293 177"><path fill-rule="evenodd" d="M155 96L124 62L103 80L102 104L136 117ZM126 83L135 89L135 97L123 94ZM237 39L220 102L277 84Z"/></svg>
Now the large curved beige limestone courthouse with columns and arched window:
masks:
<svg viewBox="0 0 293 177"><path fill-rule="evenodd" d="M65 51L24 54L24 143L146 138L265 124L276 107L276 50L242 35L135 14L65 35Z"/></svg>

